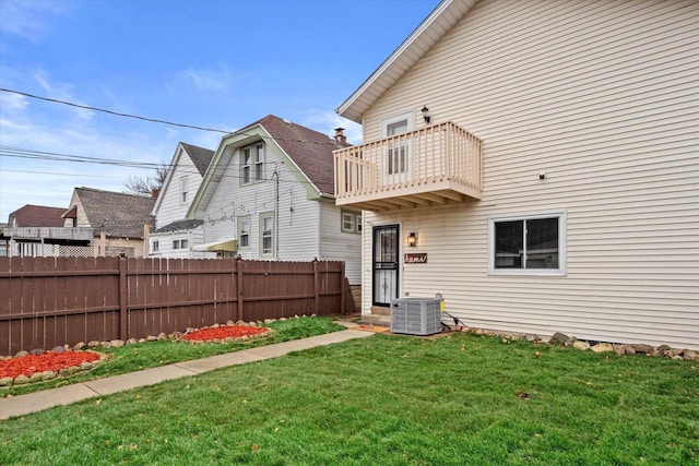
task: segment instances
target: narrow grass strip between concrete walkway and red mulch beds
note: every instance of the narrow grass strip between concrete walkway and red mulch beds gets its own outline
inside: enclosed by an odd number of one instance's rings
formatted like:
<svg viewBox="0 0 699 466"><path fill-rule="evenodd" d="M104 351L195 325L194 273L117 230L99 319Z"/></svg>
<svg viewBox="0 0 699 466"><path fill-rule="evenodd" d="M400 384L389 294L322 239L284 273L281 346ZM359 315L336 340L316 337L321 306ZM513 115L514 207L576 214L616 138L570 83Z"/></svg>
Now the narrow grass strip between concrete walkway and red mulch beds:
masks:
<svg viewBox="0 0 699 466"><path fill-rule="evenodd" d="M58 378L42 383L2 389L0 390L0 398L8 395L23 395L42 390L84 382L87 380L103 379L157 366L166 366L190 359L205 358L208 356L221 355L224 353L345 330L344 326L334 323L330 318L288 319L285 321L276 321L274 323L266 324L265 326L274 328L275 333L270 337L248 342L192 345L164 340L128 345L122 346L121 348L96 348L96 350L100 353L107 353L110 355L108 363L100 365L90 372L78 373L68 378Z"/></svg>

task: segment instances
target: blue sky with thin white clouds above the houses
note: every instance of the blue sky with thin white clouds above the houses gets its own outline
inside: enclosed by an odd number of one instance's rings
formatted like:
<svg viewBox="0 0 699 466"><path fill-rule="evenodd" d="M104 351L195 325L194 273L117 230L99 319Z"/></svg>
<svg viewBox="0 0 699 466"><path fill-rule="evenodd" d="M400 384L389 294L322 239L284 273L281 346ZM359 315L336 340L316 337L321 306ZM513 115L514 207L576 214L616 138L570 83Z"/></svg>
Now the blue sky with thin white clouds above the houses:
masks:
<svg viewBox="0 0 699 466"><path fill-rule="evenodd" d="M273 113L358 143L334 109L437 4L0 0L0 87L225 131ZM157 165L179 141L215 150L222 135L0 92L0 223L25 204L68 207L74 187L123 191L154 172L63 155ZM16 156L27 152L42 154Z"/></svg>

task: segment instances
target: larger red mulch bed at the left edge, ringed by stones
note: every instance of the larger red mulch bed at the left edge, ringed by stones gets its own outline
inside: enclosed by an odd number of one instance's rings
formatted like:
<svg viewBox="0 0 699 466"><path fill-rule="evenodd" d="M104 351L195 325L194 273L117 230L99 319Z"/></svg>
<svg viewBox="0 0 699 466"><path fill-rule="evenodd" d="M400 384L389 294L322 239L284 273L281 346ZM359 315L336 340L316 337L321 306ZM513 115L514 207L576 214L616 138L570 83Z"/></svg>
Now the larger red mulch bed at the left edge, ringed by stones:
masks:
<svg viewBox="0 0 699 466"><path fill-rule="evenodd" d="M0 361L0 379L19 375L32 377L37 372L52 371L58 373L61 369L80 366L82 362L93 362L99 359L99 355L91 351L48 351L43 355L27 355L19 358Z"/></svg>

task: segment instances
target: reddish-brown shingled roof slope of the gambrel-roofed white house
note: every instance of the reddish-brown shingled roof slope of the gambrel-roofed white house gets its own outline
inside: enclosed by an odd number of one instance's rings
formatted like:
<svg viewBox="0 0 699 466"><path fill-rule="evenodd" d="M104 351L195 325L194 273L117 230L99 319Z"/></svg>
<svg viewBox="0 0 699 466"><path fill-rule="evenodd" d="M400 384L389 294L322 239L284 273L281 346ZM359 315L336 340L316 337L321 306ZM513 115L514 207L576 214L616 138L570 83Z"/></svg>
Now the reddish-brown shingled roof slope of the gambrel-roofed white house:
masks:
<svg viewBox="0 0 699 466"><path fill-rule="evenodd" d="M250 124L261 124L298 168L323 194L334 195L332 152L347 147L328 134L268 115Z"/></svg>

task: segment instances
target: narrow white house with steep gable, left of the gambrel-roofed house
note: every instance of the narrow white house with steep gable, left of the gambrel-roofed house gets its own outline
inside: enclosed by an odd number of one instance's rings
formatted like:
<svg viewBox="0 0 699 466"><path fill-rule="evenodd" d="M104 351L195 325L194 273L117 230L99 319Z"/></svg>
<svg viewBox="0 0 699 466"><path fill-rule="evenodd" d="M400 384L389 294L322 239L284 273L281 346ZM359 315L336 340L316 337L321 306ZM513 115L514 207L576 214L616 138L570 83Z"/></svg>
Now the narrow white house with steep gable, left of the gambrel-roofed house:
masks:
<svg viewBox="0 0 699 466"><path fill-rule="evenodd" d="M187 219L194 194L214 155L213 151L180 142L155 200L155 230L149 255L154 258L216 258L216 252L194 251L204 242L202 220Z"/></svg>

